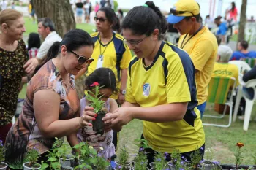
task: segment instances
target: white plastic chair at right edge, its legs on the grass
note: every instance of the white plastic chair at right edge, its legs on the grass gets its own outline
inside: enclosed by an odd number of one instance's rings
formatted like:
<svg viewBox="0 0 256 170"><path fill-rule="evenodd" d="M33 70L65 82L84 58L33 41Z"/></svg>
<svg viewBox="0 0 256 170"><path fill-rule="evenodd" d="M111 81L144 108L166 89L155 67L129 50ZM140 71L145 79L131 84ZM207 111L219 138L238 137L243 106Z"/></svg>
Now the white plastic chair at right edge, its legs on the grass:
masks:
<svg viewBox="0 0 256 170"><path fill-rule="evenodd" d="M243 87L244 88L252 88L254 90L254 96L252 99L247 98L244 93L243 93ZM254 101L256 100L256 79L252 79L249 80L248 82L241 82L241 85L239 85L238 88L238 93L236 96L236 102L239 101L238 103L236 103L235 106L235 110L234 110L234 115L233 115L233 122L236 121L236 117L237 117L237 112L238 112L238 106L241 98L244 97L245 99L245 112L244 112L244 131L248 131L248 127L249 127L249 120L251 117L251 113L252 113L252 107L254 104Z"/></svg>

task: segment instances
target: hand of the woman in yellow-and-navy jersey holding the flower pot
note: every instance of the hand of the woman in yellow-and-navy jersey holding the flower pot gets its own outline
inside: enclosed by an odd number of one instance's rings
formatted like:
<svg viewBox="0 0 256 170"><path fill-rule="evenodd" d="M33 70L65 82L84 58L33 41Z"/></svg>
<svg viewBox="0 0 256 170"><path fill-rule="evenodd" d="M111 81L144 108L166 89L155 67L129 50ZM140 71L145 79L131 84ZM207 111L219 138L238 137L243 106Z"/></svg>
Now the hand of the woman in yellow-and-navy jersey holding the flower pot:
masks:
<svg viewBox="0 0 256 170"><path fill-rule="evenodd" d="M118 108L113 112L113 114L103 117L102 120L107 123L110 122L112 125L126 125L131 120L133 120L131 109L132 107Z"/></svg>

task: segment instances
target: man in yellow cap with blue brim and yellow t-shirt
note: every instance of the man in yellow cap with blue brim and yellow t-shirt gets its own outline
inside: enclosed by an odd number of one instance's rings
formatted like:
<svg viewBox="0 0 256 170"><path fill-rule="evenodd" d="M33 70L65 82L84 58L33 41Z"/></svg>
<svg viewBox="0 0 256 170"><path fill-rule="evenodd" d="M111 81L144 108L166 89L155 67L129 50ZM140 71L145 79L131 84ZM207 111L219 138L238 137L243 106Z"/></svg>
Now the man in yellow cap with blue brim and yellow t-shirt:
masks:
<svg viewBox="0 0 256 170"><path fill-rule="evenodd" d="M197 109L201 117L206 108L207 86L216 61L218 45L214 34L200 22L200 6L194 0L178 0L167 20L173 23L181 37L178 47L189 53L195 65Z"/></svg>

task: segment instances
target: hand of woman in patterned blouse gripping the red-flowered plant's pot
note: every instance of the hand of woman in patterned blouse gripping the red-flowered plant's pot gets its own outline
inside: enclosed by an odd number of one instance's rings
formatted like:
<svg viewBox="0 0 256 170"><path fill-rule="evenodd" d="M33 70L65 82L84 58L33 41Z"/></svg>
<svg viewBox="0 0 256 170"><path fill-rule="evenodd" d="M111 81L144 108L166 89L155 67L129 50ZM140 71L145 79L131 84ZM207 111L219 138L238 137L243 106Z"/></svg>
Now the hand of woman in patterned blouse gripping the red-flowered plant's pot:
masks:
<svg viewBox="0 0 256 170"><path fill-rule="evenodd" d="M93 112L94 108L92 107L85 107L83 111L83 115L80 117L80 128L83 128L85 126L92 126L91 123L89 123L89 120L95 120L95 117L97 117L97 114Z"/></svg>

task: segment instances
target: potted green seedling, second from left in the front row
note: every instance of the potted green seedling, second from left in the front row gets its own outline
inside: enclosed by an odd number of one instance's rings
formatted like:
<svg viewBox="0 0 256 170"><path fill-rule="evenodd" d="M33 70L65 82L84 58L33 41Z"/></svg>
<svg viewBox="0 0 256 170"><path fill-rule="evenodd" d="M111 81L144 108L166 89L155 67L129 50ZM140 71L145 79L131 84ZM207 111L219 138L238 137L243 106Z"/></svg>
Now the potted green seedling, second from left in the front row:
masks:
<svg viewBox="0 0 256 170"><path fill-rule="evenodd" d="M26 159L29 160L29 162L23 163L23 169L24 170L31 170L31 169L40 169L41 165L37 163L37 160L39 158L39 152L36 147L33 149L30 149L28 152L26 152Z"/></svg>

